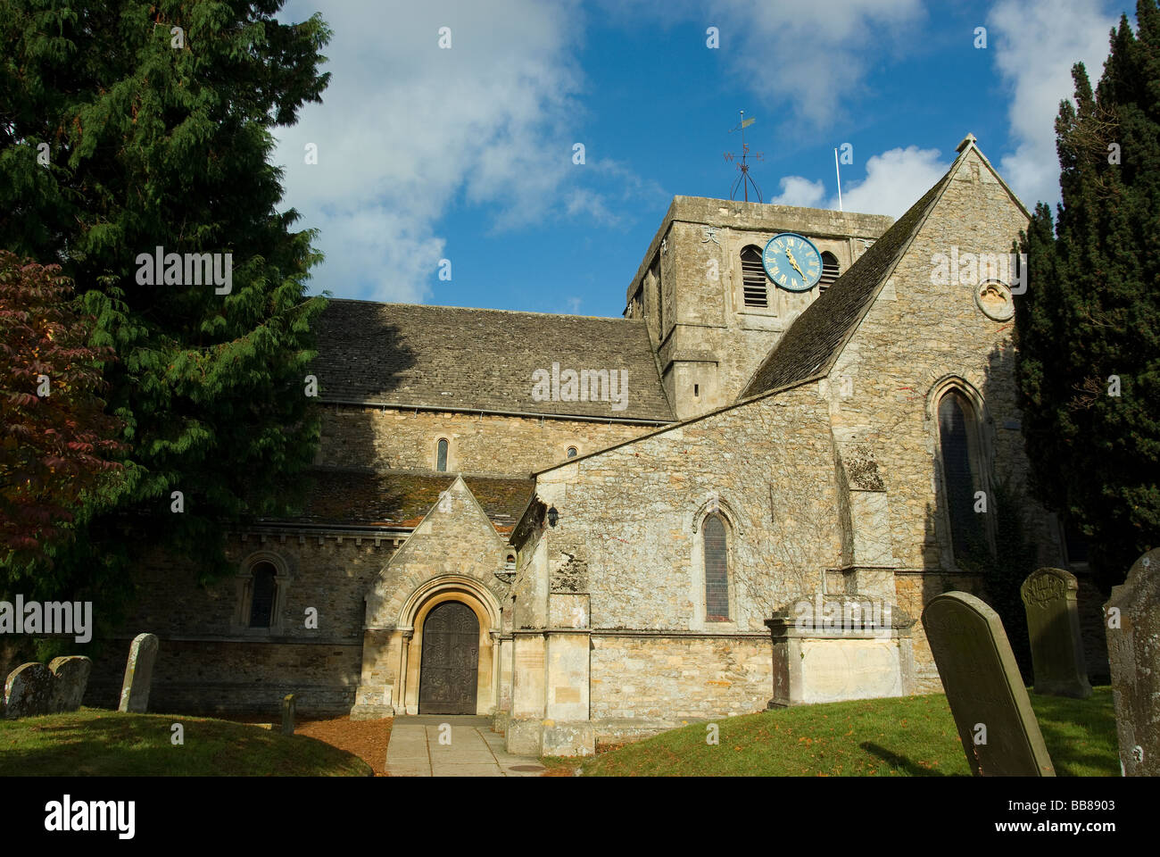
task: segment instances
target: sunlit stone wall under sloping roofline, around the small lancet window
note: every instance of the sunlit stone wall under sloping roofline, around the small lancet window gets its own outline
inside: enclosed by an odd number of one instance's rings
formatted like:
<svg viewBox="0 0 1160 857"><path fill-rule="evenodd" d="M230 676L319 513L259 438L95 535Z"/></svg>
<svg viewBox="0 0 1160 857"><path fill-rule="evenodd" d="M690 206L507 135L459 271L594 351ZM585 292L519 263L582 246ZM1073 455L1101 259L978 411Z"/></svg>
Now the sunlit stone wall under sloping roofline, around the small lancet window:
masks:
<svg viewBox="0 0 1160 857"><path fill-rule="evenodd" d="M820 586L841 553L834 449L817 384L665 430L538 478L559 512L544 569L587 567L593 628L764 633L790 597ZM701 517L716 498L728 534L728 622L706 622ZM523 581L517 584L527 586ZM516 604L515 624L529 617Z"/></svg>

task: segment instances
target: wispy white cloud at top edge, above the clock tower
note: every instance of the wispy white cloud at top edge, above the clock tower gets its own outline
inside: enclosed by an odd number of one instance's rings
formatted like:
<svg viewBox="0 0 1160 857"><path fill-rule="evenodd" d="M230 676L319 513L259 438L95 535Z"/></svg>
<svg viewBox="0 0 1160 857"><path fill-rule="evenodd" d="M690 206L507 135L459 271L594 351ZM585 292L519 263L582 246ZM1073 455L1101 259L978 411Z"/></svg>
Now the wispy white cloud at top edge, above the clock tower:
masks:
<svg viewBox="0 0 1160 857"><path fill-rule="evenodd" d="M862 92L868 60L904 44L925 14L921 0L718 0L706 20L746 87L824 128Z"/></svg>

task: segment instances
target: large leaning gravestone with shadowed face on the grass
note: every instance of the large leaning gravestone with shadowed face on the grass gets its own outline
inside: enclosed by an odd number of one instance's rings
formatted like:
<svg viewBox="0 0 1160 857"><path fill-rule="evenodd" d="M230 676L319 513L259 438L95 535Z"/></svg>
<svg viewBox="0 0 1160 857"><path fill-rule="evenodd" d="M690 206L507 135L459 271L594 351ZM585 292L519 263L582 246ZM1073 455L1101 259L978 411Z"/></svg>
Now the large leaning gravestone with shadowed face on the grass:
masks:
<svg viewBox="0 0 1160 857"><path fill-rule="evenodd" d="M974 776L1056 776L999 614L944 592L922 611L922 627Z"/></svg>

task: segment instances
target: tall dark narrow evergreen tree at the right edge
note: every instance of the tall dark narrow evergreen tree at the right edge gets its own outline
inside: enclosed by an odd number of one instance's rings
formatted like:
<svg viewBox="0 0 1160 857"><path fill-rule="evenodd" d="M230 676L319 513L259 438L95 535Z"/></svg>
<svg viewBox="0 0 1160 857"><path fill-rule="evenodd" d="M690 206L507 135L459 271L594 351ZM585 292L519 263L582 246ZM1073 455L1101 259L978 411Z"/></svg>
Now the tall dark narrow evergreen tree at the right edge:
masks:
<svg viewBox="0 0 1160 857"><path fill-rule="evenodd" d="M1111 34L1093 93L1056 120L1061 202L1021 251L1016 377L1038 497L1089 542L1099 581L1160 545L1160 10Z"/></svg>

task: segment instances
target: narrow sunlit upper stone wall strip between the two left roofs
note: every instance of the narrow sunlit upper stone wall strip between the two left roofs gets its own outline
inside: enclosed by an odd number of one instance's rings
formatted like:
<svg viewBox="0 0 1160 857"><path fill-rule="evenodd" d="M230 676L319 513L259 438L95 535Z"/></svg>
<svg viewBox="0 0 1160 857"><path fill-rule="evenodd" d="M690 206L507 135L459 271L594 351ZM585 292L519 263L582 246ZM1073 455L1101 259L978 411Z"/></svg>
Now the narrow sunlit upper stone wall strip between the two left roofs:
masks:
<svg viewBox="0 0 1160 857"><path fill-rule="evenodd" d="M528 386L530 391L530 380ZM631 395L632 379L629 379ZM566 460L570 446L586 455L640 437L654 427L632 423L327 405L322 413L317 463L435 470L436 446L440 438L447 438L447 469L450 473L527 476Z"/></svg>

